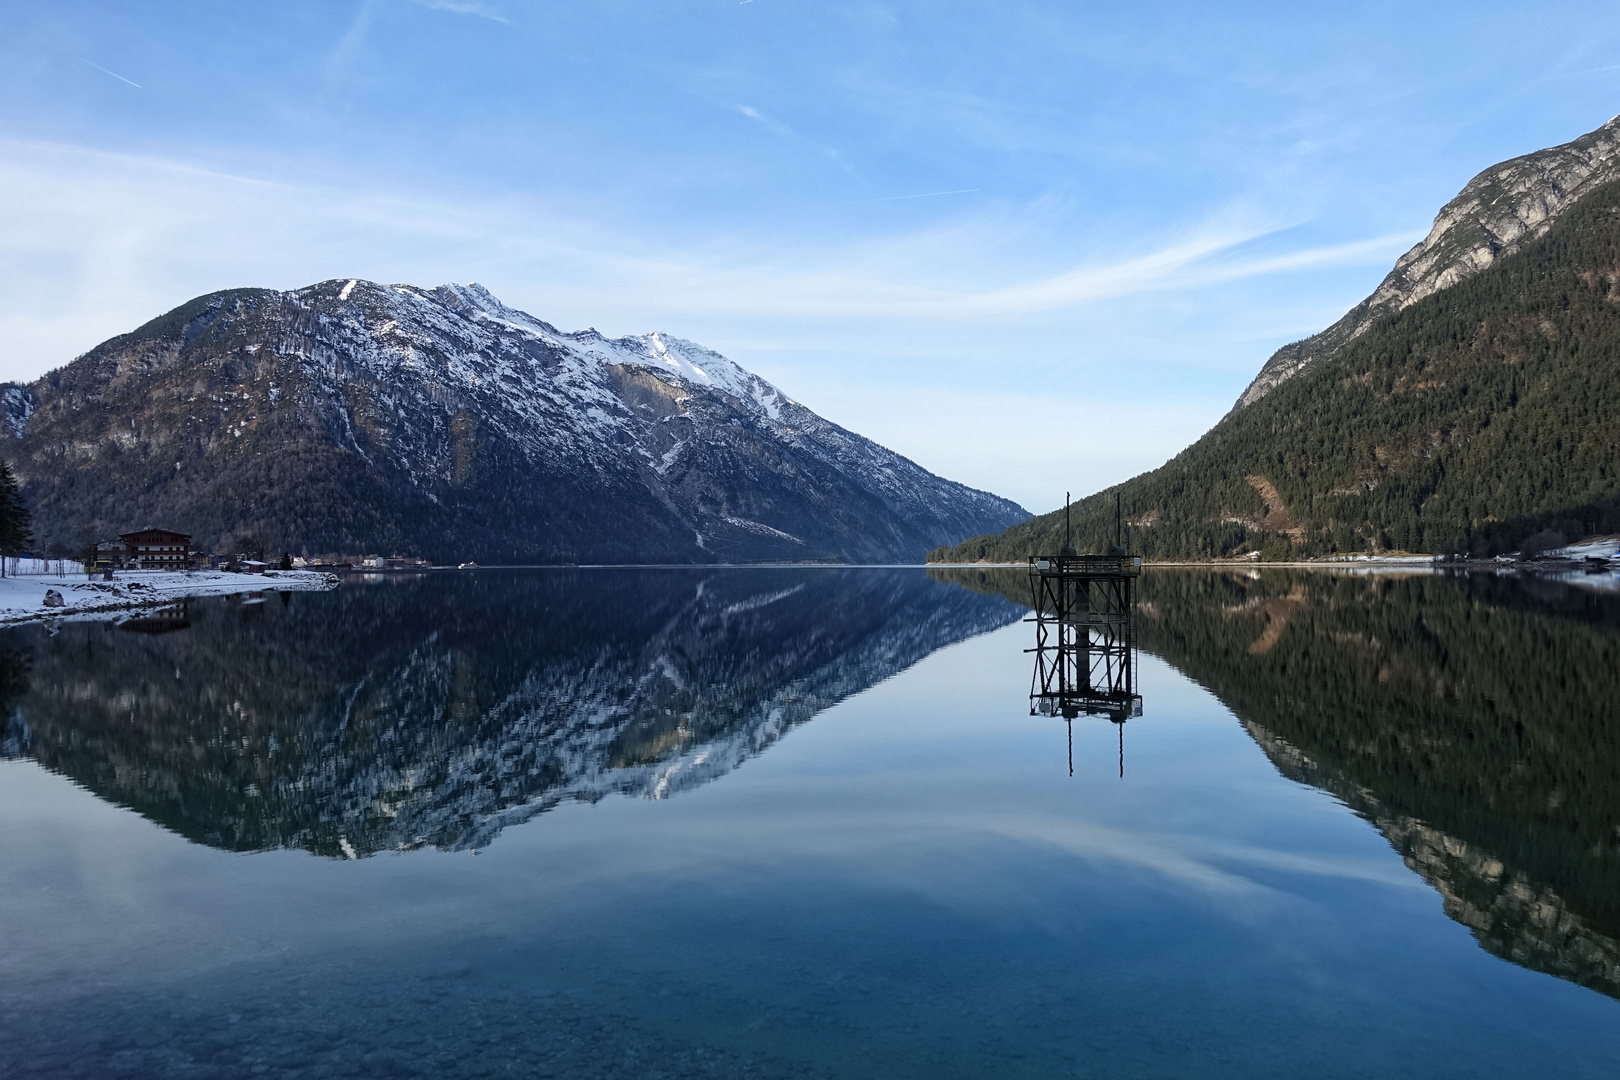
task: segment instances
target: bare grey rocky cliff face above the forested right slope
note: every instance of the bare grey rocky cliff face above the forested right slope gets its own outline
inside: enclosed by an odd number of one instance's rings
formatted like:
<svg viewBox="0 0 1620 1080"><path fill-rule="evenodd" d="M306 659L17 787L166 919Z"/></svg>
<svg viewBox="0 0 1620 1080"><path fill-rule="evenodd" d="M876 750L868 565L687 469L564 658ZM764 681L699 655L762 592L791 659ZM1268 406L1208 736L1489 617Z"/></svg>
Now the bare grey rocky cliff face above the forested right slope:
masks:
<svg viewBox="0 0 1620 1080"><path fill-rule="evenodd" d="M1620 178L1620 117L1573 142L1492 165L1440 207L1434 227L1371 296L1328 329L1277 350L1238 398L1252 405L1280 382L1356 340L1380 316L1450 288L1547 233L1588 191Z"/></svg>

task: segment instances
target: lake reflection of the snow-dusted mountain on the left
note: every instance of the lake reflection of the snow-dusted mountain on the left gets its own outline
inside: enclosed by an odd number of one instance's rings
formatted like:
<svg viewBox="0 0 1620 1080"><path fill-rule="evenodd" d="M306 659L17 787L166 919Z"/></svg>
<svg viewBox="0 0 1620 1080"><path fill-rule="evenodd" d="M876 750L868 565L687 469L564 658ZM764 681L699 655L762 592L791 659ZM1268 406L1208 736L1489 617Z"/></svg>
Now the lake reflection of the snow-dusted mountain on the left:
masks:
<svg viewBox="0 0 1620 1080"><path fill-rule="evenodd" d="M272 597L274 599L274 597ZM28 755L228 850L476 848L564 800L663 798L1019 615L906 572L546 572L352 583L13 630Z"/></svg>

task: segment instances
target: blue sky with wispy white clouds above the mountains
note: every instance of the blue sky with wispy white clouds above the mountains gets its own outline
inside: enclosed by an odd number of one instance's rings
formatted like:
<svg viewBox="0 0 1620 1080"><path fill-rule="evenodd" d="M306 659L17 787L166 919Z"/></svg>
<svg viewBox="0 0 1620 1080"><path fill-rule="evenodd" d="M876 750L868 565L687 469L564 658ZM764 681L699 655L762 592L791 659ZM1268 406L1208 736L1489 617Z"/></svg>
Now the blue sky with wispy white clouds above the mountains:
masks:
<svg viewBox="0 0 1620 1080"><path fill-rule="evenodd" d="M1047 510L1617 112L1594 3L6 2L0 377L215 288L476 280Z"/></svg>

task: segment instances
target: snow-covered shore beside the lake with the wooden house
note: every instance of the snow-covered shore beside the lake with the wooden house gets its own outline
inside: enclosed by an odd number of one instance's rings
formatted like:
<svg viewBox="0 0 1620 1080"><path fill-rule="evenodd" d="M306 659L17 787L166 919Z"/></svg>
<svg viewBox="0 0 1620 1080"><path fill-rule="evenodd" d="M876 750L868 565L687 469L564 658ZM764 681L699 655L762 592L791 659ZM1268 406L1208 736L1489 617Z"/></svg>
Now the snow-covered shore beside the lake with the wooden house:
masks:
<svg viewBox="0 0 1620 1080"><path fill-rule="evenodd" d="M120 570L112 581L89 581L83 573L66 576L29 573L0 580L0 625L87 615L94 612L162 607L188 596L230 596L235 593L313 593L337 588L337 575L318 570L271 570L230 573L228 570ZM47 606L47 594L62 596Z"/></svg>

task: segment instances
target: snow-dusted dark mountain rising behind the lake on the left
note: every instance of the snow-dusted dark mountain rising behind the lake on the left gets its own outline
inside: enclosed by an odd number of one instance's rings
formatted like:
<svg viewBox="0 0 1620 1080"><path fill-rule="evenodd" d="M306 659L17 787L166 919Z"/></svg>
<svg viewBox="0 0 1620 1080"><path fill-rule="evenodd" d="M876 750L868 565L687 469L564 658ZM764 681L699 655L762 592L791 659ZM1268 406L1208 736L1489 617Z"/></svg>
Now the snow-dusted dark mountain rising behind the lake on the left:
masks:
<svg viewBox="0 0 1620 1080"><path fill-rule="evenodd" d="M162 523L295 554L893 562L1027 517L719 353L478 285L211 293L0 411L44 544Z"/></svg>

